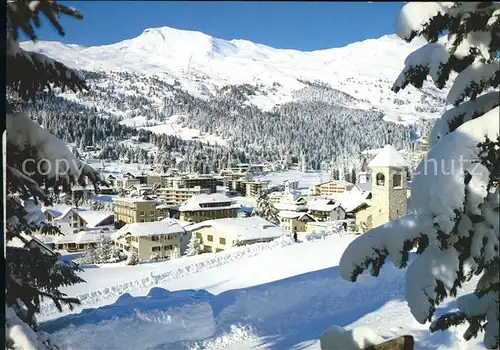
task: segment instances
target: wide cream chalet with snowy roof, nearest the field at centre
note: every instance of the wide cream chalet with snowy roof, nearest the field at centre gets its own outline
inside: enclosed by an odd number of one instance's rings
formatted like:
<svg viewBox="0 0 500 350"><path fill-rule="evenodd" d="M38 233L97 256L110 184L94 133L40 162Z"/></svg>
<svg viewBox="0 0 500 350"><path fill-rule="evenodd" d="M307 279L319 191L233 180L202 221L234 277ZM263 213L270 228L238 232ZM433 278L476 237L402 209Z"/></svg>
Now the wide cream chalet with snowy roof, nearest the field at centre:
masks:
<svg viewBox="0 0 500 350"><path fill-rule="evenodd" d="M285 230L259 216L204 221L189 227L203 252L217 253L228 248L269 242L286 234Z"/></svg>

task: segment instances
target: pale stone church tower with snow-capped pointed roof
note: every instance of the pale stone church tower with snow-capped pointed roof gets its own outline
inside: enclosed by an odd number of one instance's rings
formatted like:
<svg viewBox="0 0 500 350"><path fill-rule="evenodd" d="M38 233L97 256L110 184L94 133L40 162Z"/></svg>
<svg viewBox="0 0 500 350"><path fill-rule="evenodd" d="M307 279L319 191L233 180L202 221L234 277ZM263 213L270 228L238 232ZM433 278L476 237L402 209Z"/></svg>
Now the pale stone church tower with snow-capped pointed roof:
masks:
<svg viewBox="0 0 500 350"><path fill-rule="evenodd" d="M407 214L408 164L391 145L386 145L368 164L372 170L372 227Z"/></svg>

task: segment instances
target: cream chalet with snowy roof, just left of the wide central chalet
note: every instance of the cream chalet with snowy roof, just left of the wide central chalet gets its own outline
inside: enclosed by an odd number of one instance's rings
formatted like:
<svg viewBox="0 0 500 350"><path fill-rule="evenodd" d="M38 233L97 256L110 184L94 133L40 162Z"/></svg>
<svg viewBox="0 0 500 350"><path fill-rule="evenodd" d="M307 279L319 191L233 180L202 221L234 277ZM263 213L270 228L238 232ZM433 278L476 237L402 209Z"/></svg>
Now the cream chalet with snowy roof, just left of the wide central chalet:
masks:
<svg viewBox="0 0 500 350"><path fill-rule="evenodd" d="M163 219L155 222L133 223L120 228L112 235L116 247L134 251L140 260L158 255L168 258L174 248L180 249L181 237L187 234L189 222Z"/></svg>

